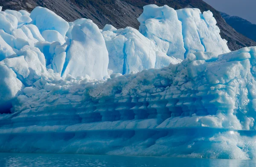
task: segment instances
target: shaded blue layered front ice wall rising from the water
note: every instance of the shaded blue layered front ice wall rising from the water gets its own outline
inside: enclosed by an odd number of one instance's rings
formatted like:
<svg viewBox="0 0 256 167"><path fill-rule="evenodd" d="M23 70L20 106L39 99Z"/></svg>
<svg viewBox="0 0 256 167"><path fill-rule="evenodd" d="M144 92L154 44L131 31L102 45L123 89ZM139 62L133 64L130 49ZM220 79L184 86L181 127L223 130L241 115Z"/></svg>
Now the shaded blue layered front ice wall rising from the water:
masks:
<svg viewBox="0 0 256 167"><path fill-rule="evenodd" d="M255 47L221 55L197 52L176 65L112 74L105 82L63 80L49 71L51 77L17 97L16 116L0 116L11 122L0 129L2 149L253 159L255 137L247 133L255 127L255 55ZM38 140L35 132L44 136ZM52 137L56 132L59 137ZM6 133L12 141L6 142ZM18 139L30 142L17 144ZM58 144L44 148L39 141Z"/></svg>

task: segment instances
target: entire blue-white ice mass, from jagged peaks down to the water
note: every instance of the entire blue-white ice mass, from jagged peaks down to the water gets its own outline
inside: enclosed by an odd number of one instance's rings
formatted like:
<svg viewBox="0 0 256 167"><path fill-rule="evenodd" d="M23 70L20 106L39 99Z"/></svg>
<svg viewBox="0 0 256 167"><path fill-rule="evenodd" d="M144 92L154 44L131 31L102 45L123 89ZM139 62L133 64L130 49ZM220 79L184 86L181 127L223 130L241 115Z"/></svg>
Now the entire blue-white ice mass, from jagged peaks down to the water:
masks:
<svg viewBox="0 0 256 167"><path fill-rule="evenodd" d="M0 152L256 159L256 47L231 52L210 11L138 21L0 11Z"/></svg>

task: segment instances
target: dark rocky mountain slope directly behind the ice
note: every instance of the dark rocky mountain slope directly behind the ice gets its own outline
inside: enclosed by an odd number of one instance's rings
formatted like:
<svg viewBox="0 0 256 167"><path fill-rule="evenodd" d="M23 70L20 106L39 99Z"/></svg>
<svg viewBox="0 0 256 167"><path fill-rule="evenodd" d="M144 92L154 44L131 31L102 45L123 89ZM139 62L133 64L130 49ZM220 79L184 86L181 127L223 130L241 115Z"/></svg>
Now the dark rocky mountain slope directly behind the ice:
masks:
<svg viewBox="0 0 256 167"><path fill-rule="evenodd" d="M93 20L99 28L111 24L116 28L131 26L139 28L137 18L143 12L143 6L156 4L168 5L175 9L193 7L201 11L210 10L221 29L221 37L228 41L230 50L237 50L245 46L256 46L256 42L239 34L228 25L221 14L202 0L0 0L4 9L32 11L36 6L43 6L54 11L67 21L78 18Z"/></svg>

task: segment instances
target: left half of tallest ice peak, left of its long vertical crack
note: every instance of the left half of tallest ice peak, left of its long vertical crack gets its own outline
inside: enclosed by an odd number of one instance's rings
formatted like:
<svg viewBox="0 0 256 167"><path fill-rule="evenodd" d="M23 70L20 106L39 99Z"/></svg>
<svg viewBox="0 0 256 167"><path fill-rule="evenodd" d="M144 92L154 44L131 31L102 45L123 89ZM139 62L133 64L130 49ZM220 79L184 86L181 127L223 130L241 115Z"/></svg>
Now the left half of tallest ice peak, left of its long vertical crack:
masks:
<svg viewBox="0 0 256 167"><path fill-rule="evenodd" d="M157 48L168 56L184 59L182 25L178 20L177 12L166 5L163 7L148 5L143 9L143 13L138 18L140 32L154 40Z"/></svg>

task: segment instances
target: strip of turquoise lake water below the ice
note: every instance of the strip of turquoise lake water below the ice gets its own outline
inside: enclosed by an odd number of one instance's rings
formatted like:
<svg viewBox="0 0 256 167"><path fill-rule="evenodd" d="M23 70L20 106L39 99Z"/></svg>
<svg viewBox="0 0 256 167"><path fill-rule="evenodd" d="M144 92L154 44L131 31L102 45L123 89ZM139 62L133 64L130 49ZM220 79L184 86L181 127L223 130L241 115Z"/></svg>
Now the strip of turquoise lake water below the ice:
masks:
<svg viewBox="0 0 256 167"><path fill-rule="evenodd" d="M0 167L256 167L256 161L0 153Z"/></svg>

